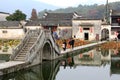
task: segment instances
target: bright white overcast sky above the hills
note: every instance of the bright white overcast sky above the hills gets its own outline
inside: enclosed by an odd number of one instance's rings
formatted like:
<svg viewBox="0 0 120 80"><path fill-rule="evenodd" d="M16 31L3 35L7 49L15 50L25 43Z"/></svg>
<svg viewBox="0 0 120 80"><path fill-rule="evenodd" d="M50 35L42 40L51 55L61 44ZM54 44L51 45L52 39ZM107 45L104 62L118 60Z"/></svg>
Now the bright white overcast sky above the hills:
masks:
<svg viewBox="0 0 120 80"><path fill-rule="evenodd" d="M50 5L66 8L66 7L76 7L79 4L105 4L106 0L35 0L35 1L40 1L44 2ZM115 2L115 1L120 1L120 0L108 0L108 2Z"/></svg>

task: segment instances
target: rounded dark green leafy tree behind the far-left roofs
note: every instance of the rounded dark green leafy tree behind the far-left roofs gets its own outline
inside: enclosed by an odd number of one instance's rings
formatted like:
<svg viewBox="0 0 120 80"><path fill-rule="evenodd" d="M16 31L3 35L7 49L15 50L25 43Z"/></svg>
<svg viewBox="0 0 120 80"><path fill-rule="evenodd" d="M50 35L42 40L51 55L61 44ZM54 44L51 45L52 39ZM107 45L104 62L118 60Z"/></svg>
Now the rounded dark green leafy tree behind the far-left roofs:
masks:
<svg viewBox="0 0 120 80"><path fill-rule="evenodd" d="M20 10L16 10L15 13L6 17L7 21L21 21L26 19L26 14L22 13Z"/></svg>

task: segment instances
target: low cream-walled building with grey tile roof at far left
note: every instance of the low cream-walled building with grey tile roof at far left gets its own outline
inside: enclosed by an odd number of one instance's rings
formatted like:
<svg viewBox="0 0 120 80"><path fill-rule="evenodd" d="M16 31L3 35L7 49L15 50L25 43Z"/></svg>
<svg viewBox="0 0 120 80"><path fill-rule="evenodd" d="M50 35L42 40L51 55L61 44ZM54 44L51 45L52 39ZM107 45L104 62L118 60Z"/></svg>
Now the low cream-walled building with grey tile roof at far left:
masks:
<svg viewBox="0 0 120 80"><path fill-rule="evenodd" d="M0 21L0 39L22 39L24 30L19 21Z"/></svg>

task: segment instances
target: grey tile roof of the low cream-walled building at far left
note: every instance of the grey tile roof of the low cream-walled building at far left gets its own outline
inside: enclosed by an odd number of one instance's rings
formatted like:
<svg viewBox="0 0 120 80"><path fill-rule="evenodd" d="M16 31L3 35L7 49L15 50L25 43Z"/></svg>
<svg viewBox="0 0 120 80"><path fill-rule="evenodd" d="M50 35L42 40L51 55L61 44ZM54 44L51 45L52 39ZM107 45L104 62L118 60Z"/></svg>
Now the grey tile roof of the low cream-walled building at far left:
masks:
<svg viewBox="0 0 120 80"><path fill-rule="evenodd" d="M19 27L19 24L20 24L19 21L0 21L0 28Z"/></svg>

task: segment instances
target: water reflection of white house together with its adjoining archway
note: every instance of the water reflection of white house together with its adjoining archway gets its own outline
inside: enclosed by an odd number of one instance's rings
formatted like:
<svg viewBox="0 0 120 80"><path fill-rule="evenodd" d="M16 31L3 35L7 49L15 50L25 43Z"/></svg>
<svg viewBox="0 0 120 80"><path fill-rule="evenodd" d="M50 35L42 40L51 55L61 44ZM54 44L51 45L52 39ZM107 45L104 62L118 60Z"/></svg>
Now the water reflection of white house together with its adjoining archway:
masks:
<svg viewBox="0 0 120 80"><path fill-rule="evenodd" d="M110 61L110 57L109 51L102 53L97 49L93 49L86 53L75 56L74 63L75 65L101 66L103 61Z"/></svg>

